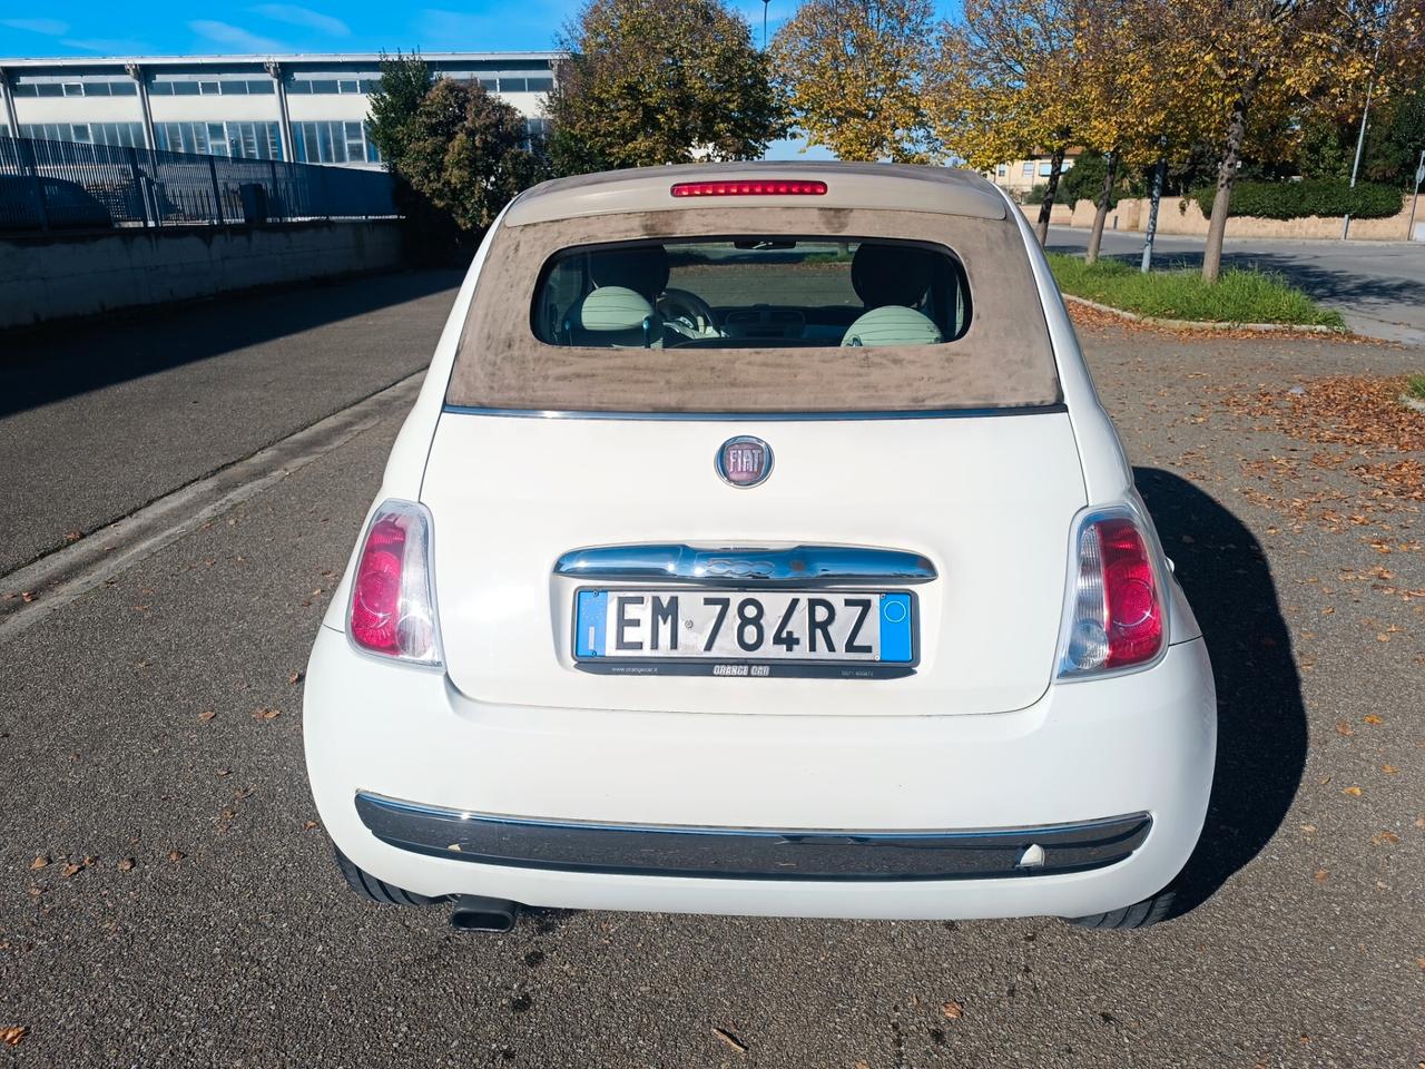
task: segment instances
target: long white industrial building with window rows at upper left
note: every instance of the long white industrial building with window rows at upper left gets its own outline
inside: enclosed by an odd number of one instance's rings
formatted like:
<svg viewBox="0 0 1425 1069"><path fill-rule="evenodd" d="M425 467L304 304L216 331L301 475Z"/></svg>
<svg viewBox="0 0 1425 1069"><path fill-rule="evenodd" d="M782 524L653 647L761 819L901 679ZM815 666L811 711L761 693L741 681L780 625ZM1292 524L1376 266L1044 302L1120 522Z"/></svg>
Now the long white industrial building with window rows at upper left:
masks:
<svg viewBox="0 0 1425 1069"><path fill-rule="evenodd" d="M430 53L543 131L559 53ZM255 160L379 167L366 97L375 53L0 58L0 134Z"/></svg>

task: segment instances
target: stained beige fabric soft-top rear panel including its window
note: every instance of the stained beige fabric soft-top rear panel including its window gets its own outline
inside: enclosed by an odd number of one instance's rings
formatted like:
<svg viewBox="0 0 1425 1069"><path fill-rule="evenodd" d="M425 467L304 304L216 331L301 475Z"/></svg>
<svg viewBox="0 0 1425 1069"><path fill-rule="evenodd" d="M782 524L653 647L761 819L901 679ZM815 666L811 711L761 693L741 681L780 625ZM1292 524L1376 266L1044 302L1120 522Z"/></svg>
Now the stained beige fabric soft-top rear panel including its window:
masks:
<svg viewBox="0 0 1425 1069"><path fill-rule="evenodd" d="M500 227L446 402L899 413L1060 399L1015 220L688 207Z"/></svg>

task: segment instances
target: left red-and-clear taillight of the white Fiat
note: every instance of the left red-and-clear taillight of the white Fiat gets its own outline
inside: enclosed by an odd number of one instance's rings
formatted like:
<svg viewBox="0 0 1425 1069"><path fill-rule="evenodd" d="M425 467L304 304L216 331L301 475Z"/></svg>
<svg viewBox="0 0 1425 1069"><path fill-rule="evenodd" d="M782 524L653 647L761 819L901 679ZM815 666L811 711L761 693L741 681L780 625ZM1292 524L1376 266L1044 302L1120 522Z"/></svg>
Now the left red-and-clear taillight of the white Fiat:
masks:
<svg viewBox="0 0 1425 1069"><path fill-rule="evenodd" d="M430 513L423 505L388 500L370 517L352 577L346 633L368 653L440 664Z"/></svg>

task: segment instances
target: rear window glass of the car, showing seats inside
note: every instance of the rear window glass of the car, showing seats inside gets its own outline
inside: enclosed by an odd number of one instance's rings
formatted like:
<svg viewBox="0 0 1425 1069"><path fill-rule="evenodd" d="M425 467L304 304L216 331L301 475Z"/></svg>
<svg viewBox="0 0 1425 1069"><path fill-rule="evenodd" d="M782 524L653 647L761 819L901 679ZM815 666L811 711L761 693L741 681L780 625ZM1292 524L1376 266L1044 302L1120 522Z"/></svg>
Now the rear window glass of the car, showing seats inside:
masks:
<svg viewBox="0 0 1425 1069"><path fill-rule="evenodd" d="M724 349L943 345L970 309L943 245L764 234L563 249L530 316L549 345Z"/></svg>

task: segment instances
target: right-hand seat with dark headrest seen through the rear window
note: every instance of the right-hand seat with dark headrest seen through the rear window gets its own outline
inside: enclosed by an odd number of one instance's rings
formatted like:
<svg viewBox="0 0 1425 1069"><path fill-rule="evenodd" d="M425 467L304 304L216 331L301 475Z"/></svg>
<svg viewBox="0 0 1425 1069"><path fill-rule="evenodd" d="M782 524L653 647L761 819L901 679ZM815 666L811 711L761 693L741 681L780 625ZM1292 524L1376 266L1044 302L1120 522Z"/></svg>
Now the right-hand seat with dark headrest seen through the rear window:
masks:
<svg viewBox="0 0 1425 1069"><path fill-rule="evenodd" d="M916 305L925 299L935 254L909 245L862 242L851 258L851 285L866 311L846 328L842 345L933 345L940 328Z"/></svg>

